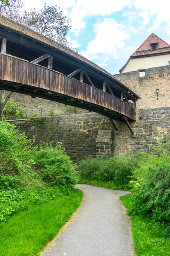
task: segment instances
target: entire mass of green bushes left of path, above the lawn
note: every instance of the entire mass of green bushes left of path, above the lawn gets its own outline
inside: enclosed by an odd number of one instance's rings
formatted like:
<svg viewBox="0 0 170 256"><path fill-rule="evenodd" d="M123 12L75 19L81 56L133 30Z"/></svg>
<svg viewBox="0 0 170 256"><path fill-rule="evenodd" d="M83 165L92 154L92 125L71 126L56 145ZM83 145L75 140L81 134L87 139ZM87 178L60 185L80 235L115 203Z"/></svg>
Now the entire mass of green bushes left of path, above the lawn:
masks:
<svg viewBox="0 0 170 256"><path fill-rule="evenodd" d="M75 165L61 143L33 145L13 124L0 122L0 221L54 200L77 183Z"/></svg>

